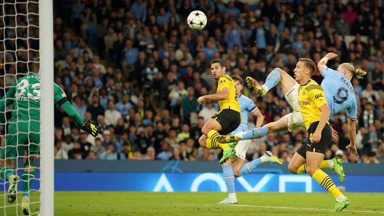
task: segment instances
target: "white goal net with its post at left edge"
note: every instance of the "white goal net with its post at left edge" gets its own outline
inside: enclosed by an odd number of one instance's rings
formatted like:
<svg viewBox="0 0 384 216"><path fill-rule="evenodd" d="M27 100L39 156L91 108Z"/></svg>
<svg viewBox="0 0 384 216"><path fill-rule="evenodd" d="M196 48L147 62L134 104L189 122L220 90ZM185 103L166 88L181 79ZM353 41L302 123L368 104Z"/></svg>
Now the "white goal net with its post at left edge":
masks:
<svg viewBox="0 0 384 216"><path fill-rule="evenodd" d="M53 56L51 6L49 0L0 1L0 215L53 215L53 92L42 92L53 88L53 74L44 72ZM44 80L34 74L39 71L48 74ZM47 203L50 213L43 213Z"/></svg>

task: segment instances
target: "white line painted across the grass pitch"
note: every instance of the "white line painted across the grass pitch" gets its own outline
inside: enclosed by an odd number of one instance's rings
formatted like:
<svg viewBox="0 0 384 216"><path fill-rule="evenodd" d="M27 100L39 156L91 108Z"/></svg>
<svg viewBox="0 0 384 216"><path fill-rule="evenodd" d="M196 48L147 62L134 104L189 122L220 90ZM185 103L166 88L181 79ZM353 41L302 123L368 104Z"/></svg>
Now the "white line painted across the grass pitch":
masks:
<svg viewBox="0 0 384 216"><path fill-rule="evenodd" d="M244 205L244 204L230 204L230 205L219 205L219 204L70 204L71 206L127 206L127 205L191 205L191 206L201 206L201 205L215 205L215 206L241 206L241 207L258 207L258 208L283 208L283 209L296 209L296 210L321 210L321 211L331 211L333 209L325 208L304 208L304 207L286 207L286 206L264 206L264 205ZM69 206L56 204L54 206ZM384 213L384 211L369 211L369 210L342 210L350 212L365 212L365 213Z"/></svg>

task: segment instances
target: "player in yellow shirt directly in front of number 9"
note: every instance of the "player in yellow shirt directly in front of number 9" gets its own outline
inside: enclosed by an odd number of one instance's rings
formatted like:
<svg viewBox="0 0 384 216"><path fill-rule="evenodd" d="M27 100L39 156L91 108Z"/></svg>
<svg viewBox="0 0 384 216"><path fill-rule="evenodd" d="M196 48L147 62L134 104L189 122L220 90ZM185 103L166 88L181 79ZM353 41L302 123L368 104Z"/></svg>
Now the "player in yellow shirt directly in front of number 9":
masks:
<svg viewBox="0 0 384 216"><path fill-rule="evenodd" d="M293 157L301 157L302 163L306 159L306 173L336 199L334 211L341 211L349 205L349 199L320 169L325 150L331 142L332 130L327 122L330 110L326 104L324 91L320 85L310 79L315 71L316 65L309 58L300 58L293 70L294 78L300 84L297 104L309 134L307 143L301 146Z"/></svg>

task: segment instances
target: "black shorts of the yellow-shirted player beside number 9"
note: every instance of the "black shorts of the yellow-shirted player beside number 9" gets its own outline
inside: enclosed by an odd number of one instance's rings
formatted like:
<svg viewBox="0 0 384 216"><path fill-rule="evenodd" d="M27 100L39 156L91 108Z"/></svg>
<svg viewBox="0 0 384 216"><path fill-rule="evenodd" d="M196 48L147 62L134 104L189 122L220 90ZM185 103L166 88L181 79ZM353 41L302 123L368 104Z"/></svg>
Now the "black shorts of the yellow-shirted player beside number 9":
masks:
<svg viewBox="0 0 384 216"><path fill-rule="evenodd" d="M330 143L332 141L332 130L328 124L325 124L324 129L322 129L321 131L320 141L313 144L310 142L310 137L312 137L312 134L316 130L318 122L319 121L315 121L309 125L309 128L307 130L308 139L306 143L301 145L296 151L298 154L300 154L304 158L306 158L305 155L307 151L313 151L313 152L319 152L319 153L325 154L326 148L330 146Z"/></svg>

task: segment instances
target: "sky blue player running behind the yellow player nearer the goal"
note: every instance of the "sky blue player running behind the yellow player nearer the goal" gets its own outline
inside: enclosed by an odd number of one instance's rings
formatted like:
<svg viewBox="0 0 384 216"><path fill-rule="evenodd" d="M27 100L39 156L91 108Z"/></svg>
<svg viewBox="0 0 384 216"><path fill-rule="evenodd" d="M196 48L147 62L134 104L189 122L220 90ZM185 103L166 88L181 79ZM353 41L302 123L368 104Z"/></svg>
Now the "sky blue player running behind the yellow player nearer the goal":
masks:
<svg viewBox="0 0 384 216"><path fill-rule="evenodd" d="M253 101L244 95L241 94L243 87L242 78L238 75L232 75L231 78L234 81L236 90L237 90L237 101L240 104L241 110L241 124L231 132L231 134L242 134L248 131L248 113L252 113L253 116L257 117L256 127L261 126L264 117L262 116L260 110L256 107ZM232 160L229 159L224 162L221 166L222 172L224 174L224 180L228 188L228 197L225 197L218 204L233 204L237 203L237 197L234 189L234 177L243 176L251 172L258 164L263 162L275 162L281 164L281 161L275 157L270 151L266 151L264 155L259 158L252 160L250 162L245 162L245 153L250 144L250 139L241 140L235 147L236 157Z"/></svg>

